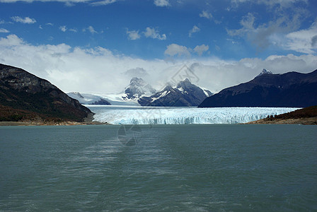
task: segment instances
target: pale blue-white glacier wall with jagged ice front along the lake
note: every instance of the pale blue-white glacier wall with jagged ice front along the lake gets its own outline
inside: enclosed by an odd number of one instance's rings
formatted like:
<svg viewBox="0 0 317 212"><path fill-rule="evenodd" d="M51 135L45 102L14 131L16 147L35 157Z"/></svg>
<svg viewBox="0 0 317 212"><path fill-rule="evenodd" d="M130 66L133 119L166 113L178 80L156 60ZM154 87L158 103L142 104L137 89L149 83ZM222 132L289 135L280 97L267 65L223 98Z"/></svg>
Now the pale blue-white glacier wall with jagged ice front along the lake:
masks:
<svg viewBox="0 0 317 212"><path fill-rule="evenodd" d="M110 124L239 124L292 112L289 107L111 107L87 105L94 121Z"/></svg>

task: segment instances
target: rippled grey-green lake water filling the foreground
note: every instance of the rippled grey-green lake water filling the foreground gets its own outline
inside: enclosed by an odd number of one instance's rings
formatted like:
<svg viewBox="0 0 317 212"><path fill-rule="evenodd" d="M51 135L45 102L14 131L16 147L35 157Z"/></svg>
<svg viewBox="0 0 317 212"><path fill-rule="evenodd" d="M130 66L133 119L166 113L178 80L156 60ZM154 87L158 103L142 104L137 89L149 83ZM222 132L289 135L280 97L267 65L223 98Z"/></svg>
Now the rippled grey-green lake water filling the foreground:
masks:
<svg viewBox="0 0 317 212"><path fill-rule="evenodd" d="M316 211L316 138L299 125L1 126L0 211Z"/></svg>

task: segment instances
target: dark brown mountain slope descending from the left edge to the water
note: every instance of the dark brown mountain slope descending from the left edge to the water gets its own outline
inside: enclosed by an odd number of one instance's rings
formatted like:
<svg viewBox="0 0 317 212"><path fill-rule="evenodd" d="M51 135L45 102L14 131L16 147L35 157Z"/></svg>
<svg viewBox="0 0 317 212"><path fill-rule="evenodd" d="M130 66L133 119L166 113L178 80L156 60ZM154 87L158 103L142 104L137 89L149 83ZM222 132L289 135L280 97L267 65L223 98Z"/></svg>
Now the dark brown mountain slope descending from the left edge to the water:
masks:
<svg viewBox="0 0 317 212"><path fill-rule="evenodd" d="M91 110L45 79L0 64L0 121L48 118L81 122Z"/></svg>

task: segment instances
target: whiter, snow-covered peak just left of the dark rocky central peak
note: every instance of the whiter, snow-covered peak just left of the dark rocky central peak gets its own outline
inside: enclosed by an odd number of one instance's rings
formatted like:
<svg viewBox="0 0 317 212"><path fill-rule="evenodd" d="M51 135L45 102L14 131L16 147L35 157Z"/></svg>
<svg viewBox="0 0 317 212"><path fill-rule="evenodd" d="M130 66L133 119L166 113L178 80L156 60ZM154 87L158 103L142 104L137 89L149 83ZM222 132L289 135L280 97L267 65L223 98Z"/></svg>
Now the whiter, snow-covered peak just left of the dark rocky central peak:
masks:
<svg viewBox="0 0 317 212"><path fill-rule="evenodd" d="M125 94L122 95L123 100L137 100L142 95L152 95L156 90L146 83L142 78L134 77L131 79L129 86L125 88Z"/></svg>

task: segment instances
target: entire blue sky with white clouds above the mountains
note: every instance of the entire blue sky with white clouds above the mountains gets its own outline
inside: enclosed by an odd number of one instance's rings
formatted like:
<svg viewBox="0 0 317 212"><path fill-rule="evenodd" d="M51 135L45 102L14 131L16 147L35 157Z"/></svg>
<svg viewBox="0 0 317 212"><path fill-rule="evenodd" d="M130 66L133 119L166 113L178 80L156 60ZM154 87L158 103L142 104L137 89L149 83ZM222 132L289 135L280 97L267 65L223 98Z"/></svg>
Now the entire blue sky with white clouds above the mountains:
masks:
<svg viewBox="0 0 317 212"><path fill-rule="evenodd" d="M317 69L316 0L0 0L0 63L65 92L188 76L214 93ZM188 71L184 71L186 67Z"/></svg>

